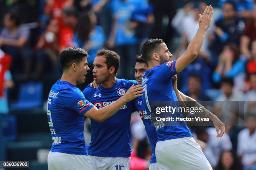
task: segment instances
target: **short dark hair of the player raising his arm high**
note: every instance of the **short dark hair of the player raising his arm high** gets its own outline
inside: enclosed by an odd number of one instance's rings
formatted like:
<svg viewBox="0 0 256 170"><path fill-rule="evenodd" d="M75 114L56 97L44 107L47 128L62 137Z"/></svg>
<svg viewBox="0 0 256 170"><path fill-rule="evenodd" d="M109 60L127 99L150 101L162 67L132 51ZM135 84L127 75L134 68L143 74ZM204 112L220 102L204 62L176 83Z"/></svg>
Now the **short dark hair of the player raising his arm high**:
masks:
<svg viewBox="0 0 256 170"><path fill-rule="evenodd" d="M158 50L161 43L164 43L164 41L158 38L147 40L146 42L144 42L141 48L141 55L146 62L152 60L152 54Z"/></svg>

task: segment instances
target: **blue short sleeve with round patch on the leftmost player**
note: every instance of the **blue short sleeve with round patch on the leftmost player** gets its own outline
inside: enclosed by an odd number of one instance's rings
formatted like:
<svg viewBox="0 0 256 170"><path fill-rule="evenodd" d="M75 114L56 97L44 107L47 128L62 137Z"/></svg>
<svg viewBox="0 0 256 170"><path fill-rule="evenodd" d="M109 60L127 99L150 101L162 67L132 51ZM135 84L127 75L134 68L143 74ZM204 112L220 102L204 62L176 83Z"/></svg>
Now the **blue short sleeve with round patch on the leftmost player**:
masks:
<svg viewBox="0 0 256 170"><path fill-rule="evenodd" d="M84 115L88 110L90 110L94 105L85 99L81 91L73 91L70 96L66 96L65 106L71 110L79 112L79 114Z"/></svg>

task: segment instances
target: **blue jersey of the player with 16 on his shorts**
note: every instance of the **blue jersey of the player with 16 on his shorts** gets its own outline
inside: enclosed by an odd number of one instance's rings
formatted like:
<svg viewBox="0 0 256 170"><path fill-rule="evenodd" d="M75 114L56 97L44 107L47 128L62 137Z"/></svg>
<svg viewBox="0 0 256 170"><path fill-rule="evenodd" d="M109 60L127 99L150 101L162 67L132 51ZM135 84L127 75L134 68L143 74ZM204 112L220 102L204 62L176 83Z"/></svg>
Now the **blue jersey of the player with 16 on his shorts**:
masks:
<svg viewBox="0 0 256 170"><path fill-rule="evenodd" d="M89 85L83 93L90 102L101 108L118 100L133 84L136 85L137 81L117 79L111 88L100 85L95 89ZM135 107L131 101L103 122L91 120L92 135L88 154L101 157L130 157L130 122L131 113L134 111Z"/></svg>

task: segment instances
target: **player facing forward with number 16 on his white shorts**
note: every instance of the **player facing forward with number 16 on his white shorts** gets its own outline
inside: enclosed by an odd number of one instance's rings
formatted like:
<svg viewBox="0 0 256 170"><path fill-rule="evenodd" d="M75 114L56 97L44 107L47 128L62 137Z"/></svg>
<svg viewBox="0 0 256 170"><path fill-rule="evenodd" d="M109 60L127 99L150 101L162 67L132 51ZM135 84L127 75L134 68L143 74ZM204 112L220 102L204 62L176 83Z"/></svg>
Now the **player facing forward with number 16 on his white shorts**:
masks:
<svg viewBox="0 0 256 170"><path fill-rule="evenodd" d="M116 78L120 56L110 50L97 52L93 62L94 82L99 85L86 87L85 98L98 108L105 108L125 95L135 80ZM91 120L92 135L88 149L93 170L129 170L131 156L130 122L136 111L133 101L127 102L113 116L103 122Z"/></svg>

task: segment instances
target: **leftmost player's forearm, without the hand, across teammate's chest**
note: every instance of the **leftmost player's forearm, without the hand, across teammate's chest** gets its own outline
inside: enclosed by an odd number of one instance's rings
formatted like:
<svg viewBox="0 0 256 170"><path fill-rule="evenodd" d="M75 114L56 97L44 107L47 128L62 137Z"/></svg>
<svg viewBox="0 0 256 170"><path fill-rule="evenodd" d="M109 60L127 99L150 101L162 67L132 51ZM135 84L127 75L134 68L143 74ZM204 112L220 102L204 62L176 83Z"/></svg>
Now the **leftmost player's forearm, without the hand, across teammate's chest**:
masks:
<svg viewBox="0 0 256 170"><path fill-rule="evenodd" d="M118 100L113 102L112 104L102 107L99 110L97 110L97 121L103 122L108 117L114 115L118 110L125 105L127 100L125 100L124 97L120 97Z"/></svg>

